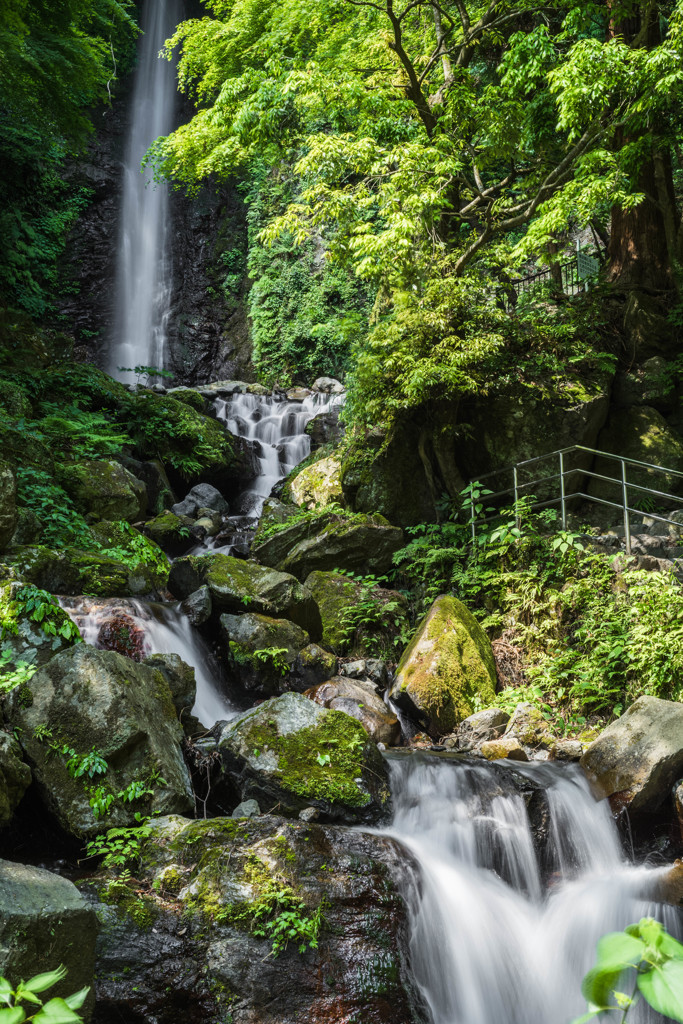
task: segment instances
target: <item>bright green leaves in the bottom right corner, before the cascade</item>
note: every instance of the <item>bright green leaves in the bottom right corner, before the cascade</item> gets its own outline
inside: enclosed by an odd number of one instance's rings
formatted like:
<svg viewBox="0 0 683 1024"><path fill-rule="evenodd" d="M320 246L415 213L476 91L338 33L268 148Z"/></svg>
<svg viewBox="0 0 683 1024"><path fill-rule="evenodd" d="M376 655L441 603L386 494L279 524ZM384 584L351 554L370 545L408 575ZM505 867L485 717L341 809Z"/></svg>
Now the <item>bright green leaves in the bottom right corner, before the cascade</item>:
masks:
<svg viewBox="0 0 683 1024"><path fill-rule="evenodd" d="M623 981L631 993L620 991ZM588 1013L572 1024L587 1024L613 1012L625 1021L640 994L657 1014L683 1024L683 946L658 921L642 918L624 932L598 942L596 966L584 978Z"/></svg>

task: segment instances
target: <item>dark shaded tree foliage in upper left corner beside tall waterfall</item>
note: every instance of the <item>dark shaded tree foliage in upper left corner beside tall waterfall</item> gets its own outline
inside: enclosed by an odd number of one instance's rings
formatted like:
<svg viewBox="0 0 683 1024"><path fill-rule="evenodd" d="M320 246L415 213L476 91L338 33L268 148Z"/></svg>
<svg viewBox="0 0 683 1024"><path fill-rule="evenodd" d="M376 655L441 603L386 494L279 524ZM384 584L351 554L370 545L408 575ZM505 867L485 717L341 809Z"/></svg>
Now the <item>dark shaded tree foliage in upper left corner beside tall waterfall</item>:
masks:
<svg viewBox="0 0 683 1024"><path fill-rule="evenodd" d="M34 315L50 306L66 234L89 193L67 159L130 65L129 0L5 0L0 9L0 296Z"/></svg>

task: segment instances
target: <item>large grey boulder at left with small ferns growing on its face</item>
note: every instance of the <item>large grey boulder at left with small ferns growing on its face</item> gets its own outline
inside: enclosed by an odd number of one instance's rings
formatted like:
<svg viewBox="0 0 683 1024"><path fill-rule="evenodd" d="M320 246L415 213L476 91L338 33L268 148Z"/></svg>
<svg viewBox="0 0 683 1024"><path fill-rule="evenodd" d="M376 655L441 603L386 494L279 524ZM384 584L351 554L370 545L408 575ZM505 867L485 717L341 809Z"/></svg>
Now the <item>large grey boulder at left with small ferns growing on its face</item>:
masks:
<svg viewBox="0 0 683 1024"><path fill-rule="evenodd" d="M90 838L133 825L136 811L193 808L182 729L161 672L78 644L6 703L42 799L66 831Z"/></svg>

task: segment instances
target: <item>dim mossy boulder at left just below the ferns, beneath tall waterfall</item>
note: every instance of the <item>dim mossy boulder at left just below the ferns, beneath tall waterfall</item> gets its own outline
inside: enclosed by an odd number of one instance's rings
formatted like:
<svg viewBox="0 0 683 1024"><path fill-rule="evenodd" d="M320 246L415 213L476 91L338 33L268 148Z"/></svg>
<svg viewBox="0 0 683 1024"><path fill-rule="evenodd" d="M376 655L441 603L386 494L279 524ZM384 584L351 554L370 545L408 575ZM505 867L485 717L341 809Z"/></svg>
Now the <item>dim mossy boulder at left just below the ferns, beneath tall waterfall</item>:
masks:
<svg viewBox="0 0 683 1024"><path fill-rule="evenodd" d="M81 512L98 519L135 522L147 507L142 481L113 460L85 459L65 466L60 482Z"/></svg>

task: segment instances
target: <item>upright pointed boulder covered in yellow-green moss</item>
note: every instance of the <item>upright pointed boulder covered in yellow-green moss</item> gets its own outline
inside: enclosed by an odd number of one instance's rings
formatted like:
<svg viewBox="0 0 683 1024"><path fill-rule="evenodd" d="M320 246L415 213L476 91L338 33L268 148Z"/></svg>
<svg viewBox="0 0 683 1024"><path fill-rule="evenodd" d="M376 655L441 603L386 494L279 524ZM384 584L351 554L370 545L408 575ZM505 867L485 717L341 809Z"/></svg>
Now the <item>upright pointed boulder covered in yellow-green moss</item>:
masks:
<svg viewBox="0 0 683 1024"><path fill-rule="evenodd" d="M496 697L496 664L485 633L464 604L437 597L398 664L391 696L430 736Z"/></svg>

